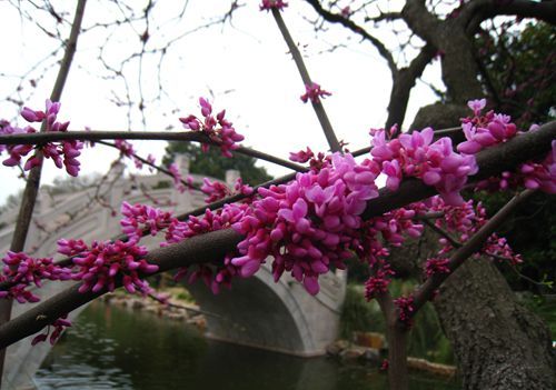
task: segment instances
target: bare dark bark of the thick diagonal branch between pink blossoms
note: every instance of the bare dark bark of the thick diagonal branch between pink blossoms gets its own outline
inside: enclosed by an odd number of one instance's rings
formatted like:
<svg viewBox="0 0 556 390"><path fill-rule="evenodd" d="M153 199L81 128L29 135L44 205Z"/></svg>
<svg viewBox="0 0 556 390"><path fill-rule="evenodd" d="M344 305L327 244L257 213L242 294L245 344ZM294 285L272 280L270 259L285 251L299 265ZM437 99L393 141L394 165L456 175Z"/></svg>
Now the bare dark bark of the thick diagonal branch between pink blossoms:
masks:
<svg viewBox="0 0 556 390"><path fill-rule="evenodd" d="M539 128L535 132L522 134L500 146L493 147L492 150L481 151L477 154L477 160L479 161L479 171L483 170L484 167L490 170L498 168L502 171L505 169L509 169L508 167L516 166L523 160L529 159L535 156L540 156L549 149L549 140L554 138L555 133L556 126L555 122L553 122ZM508 161L502 163L502 157L506 156L505 153L507 153L508 150L514 150L514 148L523 150L523 153L514 153L513 156L510 154ZM496 160L496 162L493 160ZM493 173L495 172L489 171L489 174ZM480 178L481 174L477 174L477 177ZM409 184L406 186L406 182L408 182ZM401 206L426 198L435 192L435 189L433 187L427 187L427 189L424 190L423 187L417 186L416 182L417 180L415 179L404 180L397 192L383 191L381 197L367 201L367 213L365 218L368 219L374 216L384 214L385 212L398 209ZM526 194L527 193L528 191L526 191ZM508 208L510 206L508 206ZM294 212L298 211L294 210ZM502 219L502 217L497 217L494 220L497 221L499 219ZM493 223L495 222L492 222L488 226L493 227ZM485 231L486 230L483 230L484 233L481 234L486 234ZM490 236L490 232L488 233L488 236ZM479 237L480 236L477 236L475 240L478 240ZM196 263L199 264L207 262L221 262L224 256L235 250L237 244L244 239L245 237L237 233L232 229L222 229L214 232L202 233L196 237L191 237L182 242L156 249L146 256L146 260L148 260L149 262L155 262L159 267L158 272ZM458 250L457 256L458 258L463 258L464 254L469 256L473 254L474 251L475 250L464 251L463 249L460 249ZM115 287L116 286L121 286L121 281L116 281ZM72 287L61 294L58 294L50 300L41 303L40 306L33 308L30 312L23 313L9 323L0 327L0 348L3 348L23 337L39 331L46 324L52 323L52 321L54 321L60 316L63 316L64 313L73 310L80 304L85 304L89 300L99 297L106 291L101 289L95 293L87 291L81 294L78 292L80 284ZM428 289L431 288L429 287ZM424 291L428 291L428 289ZM424 300L426 300L425 296L428 297L428 293L421 292L419 296L417 296L417 308L423 304Z"/></svg>

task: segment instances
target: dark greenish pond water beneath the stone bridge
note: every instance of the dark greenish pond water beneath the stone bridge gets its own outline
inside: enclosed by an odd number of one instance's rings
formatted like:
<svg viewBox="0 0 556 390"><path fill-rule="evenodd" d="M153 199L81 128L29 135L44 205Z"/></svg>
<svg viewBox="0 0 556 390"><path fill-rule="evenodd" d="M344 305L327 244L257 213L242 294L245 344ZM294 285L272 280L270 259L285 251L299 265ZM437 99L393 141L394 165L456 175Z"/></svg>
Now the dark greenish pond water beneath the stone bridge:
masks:
<svg viewBox="0 0 556 390"><path fill-rule="evenodd" d="M195 328L95 302L37 373L40 390L386 390L386 376L327 358L300 359L206 340ZM411 390L453 390L411 377Z"/></svg>

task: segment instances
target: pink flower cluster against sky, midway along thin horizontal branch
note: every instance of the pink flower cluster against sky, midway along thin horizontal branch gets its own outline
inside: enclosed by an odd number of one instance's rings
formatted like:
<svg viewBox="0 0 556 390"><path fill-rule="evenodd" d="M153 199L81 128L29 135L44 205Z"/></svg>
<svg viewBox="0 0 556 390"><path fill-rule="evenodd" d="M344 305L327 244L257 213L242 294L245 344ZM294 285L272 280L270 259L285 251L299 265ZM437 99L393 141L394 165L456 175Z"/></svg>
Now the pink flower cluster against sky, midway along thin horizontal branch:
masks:
<svg viewBox="0 0 556 390"><path fill-rule="evenodd" d="M226 110L220 111L216 117L214 117L212 106L208 102L208 100L199 98L199 104L201 106L201 114L203 117L202 120L190 114L186 118L180 118L180 122L183 123L186 129L202 131L212 141L220 146L222 156L231 158L231 151L239 148L237 142L241 142L244 140L244 136L237 133L232 123L225 119ZM207 151L208 144L203 143L201 148L203 151Z"/></svg>

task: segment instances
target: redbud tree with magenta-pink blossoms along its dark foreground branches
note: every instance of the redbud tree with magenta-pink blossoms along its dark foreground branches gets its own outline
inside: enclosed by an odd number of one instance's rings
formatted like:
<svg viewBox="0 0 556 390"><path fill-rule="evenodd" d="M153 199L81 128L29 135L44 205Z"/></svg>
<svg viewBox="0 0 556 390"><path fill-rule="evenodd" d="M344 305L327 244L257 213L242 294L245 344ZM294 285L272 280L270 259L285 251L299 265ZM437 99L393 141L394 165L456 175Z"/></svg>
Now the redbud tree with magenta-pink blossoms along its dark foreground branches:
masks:
<svg viewBox="0 0 556 390"><path fill-rule="evenodd" d="M477 81L468 37L481 21L496 14L554 22L554 4L470 1L449 7L441 2L407 1L399 12L377 8L376 16L365 17L367 22L404 20L425 41L414 60L398 69L391 52L358 24L364 20L360 12L367 11L371 2L332 2L328 8L318 1L307 3L324 21L340 23L370 41L385 57L394 86L386 127L369 130L369 147L347 150L337 139L322 106L334 91L326 89L324 80L317 83L310 78L287 29L282 17L287 2L262 1L258 6L264 12L261 17L275 20L302 79L299 97L294 98L312 107L329 147L328 151L307 147L292 151L286 160L242 147L244 136L234 127L230 114L215 110L207 98L199 99L199 112L177 116L182 131L69 130L69 122L59 118L60 98L85 14L86 1L78 1L64 58L46 108L24 106L20 116L26 124L7 120L0 123L2 163L20 167L27 174L11 250L3 256L0 277L0 348L34 333L38 334L33 343L47 339L54 342L70 326L66 316L71 310L120 287L129 293L151 294L146 278L155 273L177 270L177 279L201 279L214 293L219 293L234 288L234 280L250 278L269 262L275 280L290 273L307 293L317 294L319 277L345 269L346 261L355 257L369 269L365 296L378 301L387 322L390 388L407 389L406 342L419 309L435 300L447 279L475 261L474 257L524 261L496 230L534 192L556 193L556 122L520 128L509 116L490 109ZM232 2L226 18L231 18L238 7L237 1ZM146 14L149 11L147 8ZM403 132L409 91L435 57L443 61L449 103L467 106L460 126L437 131L424 126ZM461 69L460 64L468 63L469 58L473 69ZM151 156L139 156L131 143L133 139L200 142L205 149L218 148L226 158L245 153L294 173L256 187L238 181L230 189L205 180L198 188L181 177L176 164L159 167ZM118 149L121 158L131 159L138 167L146 164L169 174L179 191L205 192L207 207L173 216L152 206L123 203L119 210L121 237L91 242L59 238L60 258L56 260L23 252L41 167L53 163L76 177L83 148L101 144ZM381 178L385 186L380 188ZM514 198L487 218L480 203L463 197L465 191L510 191ZM389 261L390 248L421 236L425 224L439 234L438 250L424 261L421 283L416 290L393 297L389 283L396 267ZM141 246L145 236L160 237L160 248L148 251ZM20 317L9 318L11 301L36 302L32 286L59 280L73 280L76 284ZM554 383L554 372L536 380L548 389ZM473 386L465 376L464 384Z"/></svg>

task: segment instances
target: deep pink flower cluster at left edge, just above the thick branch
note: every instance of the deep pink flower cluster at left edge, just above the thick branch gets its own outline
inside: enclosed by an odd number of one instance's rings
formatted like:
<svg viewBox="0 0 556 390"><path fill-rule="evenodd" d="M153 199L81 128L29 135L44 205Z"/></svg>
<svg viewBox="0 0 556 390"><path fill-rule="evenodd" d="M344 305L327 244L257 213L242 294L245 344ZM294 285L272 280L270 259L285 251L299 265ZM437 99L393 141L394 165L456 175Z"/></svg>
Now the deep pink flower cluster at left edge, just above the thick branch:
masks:
<svg viewBox="0 0 556 390"><path fill-rule="evenodd" d="M71 279L71 271L56 266L50 258L34 259L22 252L9 251L2 261L6 266L0 274L0 282L9 283L9 288L0 290L0 298L13 298L19 303L40 300L28 290L31 284L41 287L43 279Z"/></svg>

